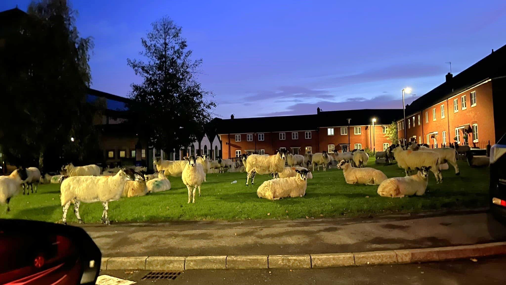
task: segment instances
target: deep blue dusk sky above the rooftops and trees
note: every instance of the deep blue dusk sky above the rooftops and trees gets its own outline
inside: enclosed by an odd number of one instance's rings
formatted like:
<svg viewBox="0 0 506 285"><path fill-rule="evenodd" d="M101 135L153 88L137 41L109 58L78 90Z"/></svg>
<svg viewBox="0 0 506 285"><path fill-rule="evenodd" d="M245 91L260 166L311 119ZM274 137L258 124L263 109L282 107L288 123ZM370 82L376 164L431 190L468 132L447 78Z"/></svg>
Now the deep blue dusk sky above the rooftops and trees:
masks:
<svg viewBox="0 0 506 285"><path fill-rule="evenodd" d="M128 96L140 79L126 58L139 58L150 23L168 15L203 59L199 80L222 118L402 108L403 87L423 95L444 81L445 62L455 75L506 44L505 1L71 3L94 38L93 88Z"/></svg>

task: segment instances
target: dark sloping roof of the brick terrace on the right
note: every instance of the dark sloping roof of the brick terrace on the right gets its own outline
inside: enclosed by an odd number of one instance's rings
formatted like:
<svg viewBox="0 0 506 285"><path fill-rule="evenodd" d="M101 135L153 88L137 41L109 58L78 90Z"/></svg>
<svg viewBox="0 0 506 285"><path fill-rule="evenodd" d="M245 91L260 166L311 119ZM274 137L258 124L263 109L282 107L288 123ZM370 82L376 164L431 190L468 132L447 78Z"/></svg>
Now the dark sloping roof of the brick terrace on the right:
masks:
<svg viewBox="0 0 506 285"><path fill-rule="evenodd" d="M487 55L449 81L406 105L406 115L419 112L487 79L506 75L506 46Z"/></svg>

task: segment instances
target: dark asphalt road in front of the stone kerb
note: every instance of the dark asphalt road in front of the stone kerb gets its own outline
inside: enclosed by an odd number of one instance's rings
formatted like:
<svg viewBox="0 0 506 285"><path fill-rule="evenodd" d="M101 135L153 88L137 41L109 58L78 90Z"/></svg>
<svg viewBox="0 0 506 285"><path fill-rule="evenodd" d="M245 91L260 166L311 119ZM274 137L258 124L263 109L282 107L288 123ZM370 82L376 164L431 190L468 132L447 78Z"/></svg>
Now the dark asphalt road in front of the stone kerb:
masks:
<svg viewBox="0 0 506 285"><path fill-rule="evenodd" d="M175 280L141 280L148 271L103 271L137 284L504 284L506 257L325 269L187 270Z"/></svg>

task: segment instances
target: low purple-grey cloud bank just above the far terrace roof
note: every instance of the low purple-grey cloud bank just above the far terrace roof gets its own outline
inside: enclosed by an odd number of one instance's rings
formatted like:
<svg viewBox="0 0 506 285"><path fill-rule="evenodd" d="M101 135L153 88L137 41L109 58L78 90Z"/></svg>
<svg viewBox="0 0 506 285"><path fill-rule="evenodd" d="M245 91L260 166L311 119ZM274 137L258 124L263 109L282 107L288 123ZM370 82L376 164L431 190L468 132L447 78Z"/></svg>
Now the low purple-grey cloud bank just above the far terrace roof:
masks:
<svg viewBox="0 0 506 285"><path fill-rule="evenodd" d="M359 100L355 100L359 99ZM379 95L371 99L353 98L343 102L319 101L315 103L298 103L287 107L286 111L262 114L262 116L307 115L316 114L316 108L323 111L353 110L353 109L399 109L401 99L392 96Z"/></svg>

